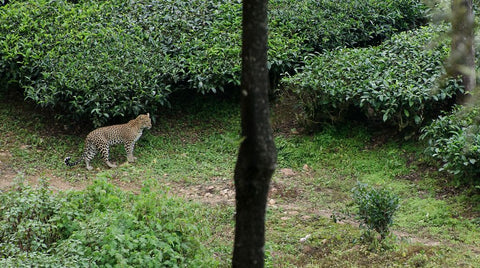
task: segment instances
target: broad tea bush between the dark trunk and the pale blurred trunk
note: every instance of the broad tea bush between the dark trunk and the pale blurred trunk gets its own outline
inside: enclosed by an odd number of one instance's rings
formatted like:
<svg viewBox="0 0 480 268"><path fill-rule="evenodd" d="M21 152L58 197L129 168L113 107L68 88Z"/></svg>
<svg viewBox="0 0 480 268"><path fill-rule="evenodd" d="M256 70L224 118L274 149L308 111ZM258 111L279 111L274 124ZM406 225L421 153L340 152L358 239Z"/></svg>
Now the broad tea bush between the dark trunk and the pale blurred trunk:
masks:
<svg viewBox="0 0 480 268"><path fill-rule="evenodd" d="M307 120L341 120L360 111L399 129L418 126L461 87L443 81L449 44L443 26L400 33L377 47L340 49L305 59L284 85L301 100Z"/></svg>

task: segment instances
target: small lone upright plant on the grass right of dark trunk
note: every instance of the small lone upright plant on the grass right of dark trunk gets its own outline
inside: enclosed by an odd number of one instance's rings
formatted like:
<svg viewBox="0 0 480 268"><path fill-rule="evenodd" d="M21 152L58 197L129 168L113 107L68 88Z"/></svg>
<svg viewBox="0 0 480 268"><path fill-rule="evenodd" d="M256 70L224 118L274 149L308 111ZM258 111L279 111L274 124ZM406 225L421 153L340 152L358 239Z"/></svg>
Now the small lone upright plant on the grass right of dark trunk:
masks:
<svg viewBox="0 0 480 268"><path fill-rule="evenodd" d="M363 221L362 226L367 228L367 232L376 231L383 240L390 233L393 216L399 207L398 196L363 183L358 183L352 192L359 218Z"/></svg>

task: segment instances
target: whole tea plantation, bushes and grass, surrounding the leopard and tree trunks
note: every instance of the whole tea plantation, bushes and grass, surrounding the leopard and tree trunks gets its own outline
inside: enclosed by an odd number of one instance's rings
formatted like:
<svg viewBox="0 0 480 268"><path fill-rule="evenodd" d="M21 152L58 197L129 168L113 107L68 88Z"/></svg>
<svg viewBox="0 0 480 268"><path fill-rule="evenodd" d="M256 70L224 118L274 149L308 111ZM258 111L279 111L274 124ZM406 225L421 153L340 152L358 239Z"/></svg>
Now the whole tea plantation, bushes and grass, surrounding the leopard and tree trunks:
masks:
<svg viewBox="0 0 480 268"><path fill-rule="evenodd" d="M266 267L480 263L478 104L455 105L439 7L269 1ZM231 266L241 12L0 1L1 266ZM64 165L146 112L136 163L113 147L118 168Z"/></svg>

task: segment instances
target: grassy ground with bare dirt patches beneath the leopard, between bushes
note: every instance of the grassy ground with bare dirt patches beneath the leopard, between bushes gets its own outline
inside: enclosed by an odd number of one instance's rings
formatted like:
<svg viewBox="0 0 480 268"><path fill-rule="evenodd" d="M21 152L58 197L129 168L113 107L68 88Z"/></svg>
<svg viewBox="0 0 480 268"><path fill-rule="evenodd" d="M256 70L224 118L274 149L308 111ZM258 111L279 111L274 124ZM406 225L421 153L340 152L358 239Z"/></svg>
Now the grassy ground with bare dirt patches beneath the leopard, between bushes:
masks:
<svg viewBox="0 0 480 268"><path fill-rule="evenodd" d="M236 104L209 98L184 107L157 111L162 113L159 121L136 147L138 163L109 170L97 158L96 169L87 172L84 166L63 164L66 155L81 154L87 127L65 130L48 113L2 100L0 168L3 174L47 177L70 185L106 177L134 190L154 178L171 194L204 203L210 216L199 221L211 226L212 254L228 266L234 203L223 189L233 190L239 111ZM315 135L277 131L276 143L279 166L267 215L268 267L474 267L480 263L478 193L444 185L447 177L421 159L421 144L389 140L388 135L353 124ZM115 148L112 158L125 161L123 148ZM350 191L356 181L390 188L401 197L392 228L396 238L376 250L361 243L361 229L352 216ZM332 213L340 222L329 218ZM300 242L306 235L311 236Z"/></svg>

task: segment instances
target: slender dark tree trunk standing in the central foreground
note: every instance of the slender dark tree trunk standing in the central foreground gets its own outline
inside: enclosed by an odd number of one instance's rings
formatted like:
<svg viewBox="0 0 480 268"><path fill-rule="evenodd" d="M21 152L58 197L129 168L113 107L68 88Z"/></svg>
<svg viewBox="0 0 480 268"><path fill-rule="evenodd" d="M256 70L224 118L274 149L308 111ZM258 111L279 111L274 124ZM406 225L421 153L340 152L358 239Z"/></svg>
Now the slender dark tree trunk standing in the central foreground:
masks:
<svg viewBox="0 0 480 268"><path fill-rule="evenodd" d="M235 166L233 267L263 267L265 211L276 149L270 126L267 0L243 1L242 137Z"/></svg>

